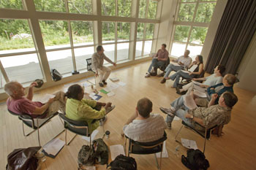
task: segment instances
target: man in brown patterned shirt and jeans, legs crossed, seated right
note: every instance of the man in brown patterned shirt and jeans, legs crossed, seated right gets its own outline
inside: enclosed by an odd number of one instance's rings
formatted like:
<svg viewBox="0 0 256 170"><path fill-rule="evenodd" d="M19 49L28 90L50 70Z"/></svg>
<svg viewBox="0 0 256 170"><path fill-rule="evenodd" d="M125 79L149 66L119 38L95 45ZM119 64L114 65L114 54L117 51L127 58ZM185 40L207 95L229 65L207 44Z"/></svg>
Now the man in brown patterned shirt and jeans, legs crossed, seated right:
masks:
<svg viewBox="0 0 256 170"><path fill-rule="evenodd" d="M215 104L216 99L217 94L212 95L208 107L189 109L184 105L184 97L181 96L173 101L170 109L162 107L160 109L167 114L166 122L168 128L171 128L173 117L176 115L192 128L198 131L204 131L200 125L205 128L212 128L215 125L225 125L229 123L231 120L231 109L238 101L237 96L229 91L222 93L219 97L219 104ZM181 107L184 109L181 109Z"/></svg>

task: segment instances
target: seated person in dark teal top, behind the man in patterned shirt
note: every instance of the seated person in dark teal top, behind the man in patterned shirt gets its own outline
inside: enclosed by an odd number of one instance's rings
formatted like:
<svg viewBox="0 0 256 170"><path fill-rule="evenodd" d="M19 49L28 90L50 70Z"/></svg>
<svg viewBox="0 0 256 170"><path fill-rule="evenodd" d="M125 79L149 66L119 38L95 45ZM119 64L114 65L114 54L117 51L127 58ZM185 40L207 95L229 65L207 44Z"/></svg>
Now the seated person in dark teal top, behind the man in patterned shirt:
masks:
<svg viewBox="0 0 256 170"><path fill-rule="evenodd" d="M233 92L233 84L236 82L236 76L233 74L226 74L222 79L222 83L217 85L210 86L207 88L207 98L198 98L194 96L195 103L200 107L207 107L209 101L211 100L211 95L217 93L217 99L215 100L215 104L218 104L219 96L222 95L225 91Z"/></svg>

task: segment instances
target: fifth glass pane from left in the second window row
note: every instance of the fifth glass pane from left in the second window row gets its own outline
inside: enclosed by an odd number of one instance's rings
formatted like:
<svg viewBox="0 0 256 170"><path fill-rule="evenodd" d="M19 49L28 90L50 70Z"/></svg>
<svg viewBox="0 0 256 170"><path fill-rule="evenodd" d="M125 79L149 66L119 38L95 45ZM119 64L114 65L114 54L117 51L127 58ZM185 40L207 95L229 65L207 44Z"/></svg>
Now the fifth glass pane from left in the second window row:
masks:
<svg viewBox="0 0 256 170"><path fill-rule="evenodd" d="M117 23L117 41L129 41L129 30L131 23Z"/></svg>

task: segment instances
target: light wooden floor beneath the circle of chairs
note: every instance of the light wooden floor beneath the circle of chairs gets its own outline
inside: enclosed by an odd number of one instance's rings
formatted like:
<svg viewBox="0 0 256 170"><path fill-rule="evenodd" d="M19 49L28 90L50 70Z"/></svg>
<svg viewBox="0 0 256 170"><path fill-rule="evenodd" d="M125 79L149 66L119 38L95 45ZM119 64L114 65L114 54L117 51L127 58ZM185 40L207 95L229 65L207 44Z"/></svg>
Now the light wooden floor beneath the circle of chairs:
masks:
<svg viewBox="0 0 256 170"><path fill-rule="evenodd" d="M104 139L108 146L113 144L124 144L124 138L121 137L121 129L130 115L135 112L135 106L138 99L148 97L153 102L153 112L159 113L159 107L169 107L170 102L178 97L175 89L170 88L172 81L167 81L164 85L160 84L161 78L144 78L149 62L140 63L135 66L129 66L112 72L110 77L118 77L127 85L113 90L115 96L108 97L102 94L100 101L111 101L116 105L108 115L105 123L105 130L110 131L110 138ZM82 83L85 80L80 80ZM108 81L109 84L113 83ZM39 91L34 99L41 97L44 93L53 93L56 90L67 90L71 85L59 85L55 88ZM101 88L97 87L97 90ZM86 92L91 92L86 88ZM225 125L224 136L211 136L211 140L206 142L206 158L210 162L210 169L216 170L253 170L256 169L256 96L255 93L242 90L235 87L235 93L238 96L238 104L233 108L232 120ZM10 115L7 112L5 104L0 106L0 169L5 169L7 164L7 155L15 148L37 146L37 133L24 137L22 134L22 123L18 117ZM184 147L179 147L178 154L175 153L179 145L174 141L174 136L181 127L181 120L173 121L173 128L167 129L167 152L169 158L162 158L162 169L186 169L181 163L181 155L186 154ZM59 133L63 125L59 117L53 118L50 123L40 128L41 143L45 144L53 136ZM29 128L26 128L29 131ZM102 136L102 127L99 127L99 134ZM69 133L69 138L72 136ZM197 142L200 150L203 149L203 138L197 134L183 128L179 135L185 139L192 139ZM59 136L64 140L64 133ZM76 138L65 146L56 158L47 158L42 165L42 169L47 170L72 170L77 169L78 151L83 144L88 144L81 136ZM138 169L157 169L154 155L132 155L138 163ZM105 169L105 166L97 166L97 169Z"/></svg>

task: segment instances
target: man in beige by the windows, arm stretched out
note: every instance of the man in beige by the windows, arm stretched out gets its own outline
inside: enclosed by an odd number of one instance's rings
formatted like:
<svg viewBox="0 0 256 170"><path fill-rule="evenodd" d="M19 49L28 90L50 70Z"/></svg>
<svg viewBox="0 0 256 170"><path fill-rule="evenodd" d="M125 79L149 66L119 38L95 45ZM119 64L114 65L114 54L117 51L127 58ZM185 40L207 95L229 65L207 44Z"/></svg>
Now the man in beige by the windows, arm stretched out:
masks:
<svg viewBox="0 0 256 170"><path fill-rule="evenodd" d="M110 75L111 69L109 67L103 66L104 60L112 63L113 66L116 66L116 63L111 61L105 54L104 48L102 45L97 47L97 53L94 53L91 56L91 69L94 70L96 77L99 76L99 86L103 87L107 85L107 79Z"/></svg>

